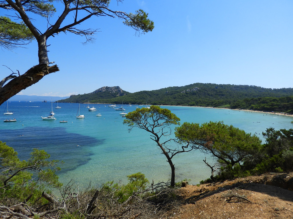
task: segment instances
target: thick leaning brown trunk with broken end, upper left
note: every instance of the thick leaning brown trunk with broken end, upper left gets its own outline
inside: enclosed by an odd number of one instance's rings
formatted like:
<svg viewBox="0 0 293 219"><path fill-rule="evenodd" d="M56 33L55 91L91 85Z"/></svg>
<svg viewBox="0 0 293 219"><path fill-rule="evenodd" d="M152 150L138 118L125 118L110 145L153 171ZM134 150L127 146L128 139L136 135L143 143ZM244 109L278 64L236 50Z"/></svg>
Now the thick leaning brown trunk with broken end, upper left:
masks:
<svg viewBox="0 0 293 219"><path fill-rule="evenodd" d="M48 66L47 64L39 64L30 68L24 74L12 79L2 88L0 88L0 105L6 100L16 95L25 88L37 83L45 75L58 72L57 65Z"/></svg>

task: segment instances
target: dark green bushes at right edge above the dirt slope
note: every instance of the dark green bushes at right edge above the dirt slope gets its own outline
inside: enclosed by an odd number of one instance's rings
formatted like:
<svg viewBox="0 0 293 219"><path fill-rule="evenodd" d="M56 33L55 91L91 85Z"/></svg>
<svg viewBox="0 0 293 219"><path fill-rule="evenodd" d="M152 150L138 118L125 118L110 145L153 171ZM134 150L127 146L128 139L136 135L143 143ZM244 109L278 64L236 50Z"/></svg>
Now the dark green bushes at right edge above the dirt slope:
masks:
<svg viewBox="0 0 293 219"><path fill-rule="evenodd" d="M265 144L254 147L243 162L232 166L218 164L220 171L213 180L226 180L265 173L289 173L293 171L293 129L267 128L263 132ZM231 168L232 167L232 168ZM202 181L209 182L211 180Z"/></svg>

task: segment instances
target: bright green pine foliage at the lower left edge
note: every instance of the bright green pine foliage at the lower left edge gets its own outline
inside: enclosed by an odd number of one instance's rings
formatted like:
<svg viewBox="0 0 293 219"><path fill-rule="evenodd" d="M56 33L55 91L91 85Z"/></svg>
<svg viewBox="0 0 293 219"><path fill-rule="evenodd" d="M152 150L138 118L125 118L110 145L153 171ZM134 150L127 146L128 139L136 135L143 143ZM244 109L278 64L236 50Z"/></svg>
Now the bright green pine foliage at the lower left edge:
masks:
<svg viewBox="0 0 293 219"><path fill-rule="evenodd" d="M48 161L50 155L43 150L34 149L30 155L28 161L20 161L13 148L0 142L0 199L37 204L45 186L62 186L55 174L58 161Z"/></svg>

